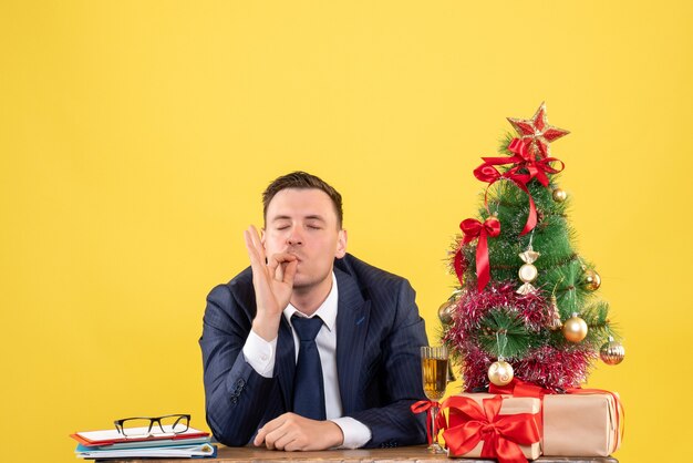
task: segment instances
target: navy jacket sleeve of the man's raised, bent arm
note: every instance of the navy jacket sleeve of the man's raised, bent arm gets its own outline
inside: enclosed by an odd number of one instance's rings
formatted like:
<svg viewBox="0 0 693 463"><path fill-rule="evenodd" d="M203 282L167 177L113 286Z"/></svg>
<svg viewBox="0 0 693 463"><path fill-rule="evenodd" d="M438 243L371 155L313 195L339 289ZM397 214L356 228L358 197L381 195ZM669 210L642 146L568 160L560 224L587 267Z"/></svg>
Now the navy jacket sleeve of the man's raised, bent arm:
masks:
<svg viewBox="0 0 693 463"><path fill-rule="evenodd" d="M275 387L250 367L242 347L251 328L251 315L220 285L207 296L199 344L203 351L207 424L226 445L246 445L267 411Z"/></svg>

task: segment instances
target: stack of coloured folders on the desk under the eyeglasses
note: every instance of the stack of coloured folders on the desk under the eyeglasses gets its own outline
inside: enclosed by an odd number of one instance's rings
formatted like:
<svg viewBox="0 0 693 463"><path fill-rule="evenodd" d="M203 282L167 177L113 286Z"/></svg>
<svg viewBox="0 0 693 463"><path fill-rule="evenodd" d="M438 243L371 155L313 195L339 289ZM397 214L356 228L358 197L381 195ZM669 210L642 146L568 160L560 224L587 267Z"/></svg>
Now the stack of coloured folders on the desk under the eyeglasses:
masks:
<svg viewBox="0 0 693 463"><path fill-rule="evenodd" d="M133 429L137 431L137 429ZM71 434L79 442L75 453L80 459L148 459L148 457L211 457L217 447L210 443L209 433L189 428L175 434L147 434L126 438L118 431L86 431Z"/></svg>

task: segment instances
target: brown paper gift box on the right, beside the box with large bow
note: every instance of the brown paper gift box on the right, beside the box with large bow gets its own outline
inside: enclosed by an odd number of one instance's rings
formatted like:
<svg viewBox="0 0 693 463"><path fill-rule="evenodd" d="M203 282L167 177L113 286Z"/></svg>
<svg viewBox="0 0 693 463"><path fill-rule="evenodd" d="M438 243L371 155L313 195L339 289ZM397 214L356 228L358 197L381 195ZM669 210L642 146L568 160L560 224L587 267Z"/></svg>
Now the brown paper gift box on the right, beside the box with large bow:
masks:
<svg viewBox="0 0 693 463"><path fill-rule="evenodd" d="M544 454L608 456L616 452L621 443L617 397L610 393L545 395Z"/></svg>

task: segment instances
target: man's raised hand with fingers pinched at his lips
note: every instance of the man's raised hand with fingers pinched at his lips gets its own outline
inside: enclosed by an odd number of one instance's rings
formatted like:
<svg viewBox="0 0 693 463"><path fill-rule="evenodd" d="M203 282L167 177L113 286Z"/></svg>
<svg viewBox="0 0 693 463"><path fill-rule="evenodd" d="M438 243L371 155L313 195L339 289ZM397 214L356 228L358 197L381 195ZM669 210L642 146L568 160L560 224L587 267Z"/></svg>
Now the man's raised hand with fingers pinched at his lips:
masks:
<svg viewBox="0 0 693 463"><path fill-rule="evenodd" d="M291 299L298 260L287 253L275 254L266 259L260 236L254 226L244 232L244 236L258 308L252 330L266 341L271 341L279 332L281 312Z"/></svg>

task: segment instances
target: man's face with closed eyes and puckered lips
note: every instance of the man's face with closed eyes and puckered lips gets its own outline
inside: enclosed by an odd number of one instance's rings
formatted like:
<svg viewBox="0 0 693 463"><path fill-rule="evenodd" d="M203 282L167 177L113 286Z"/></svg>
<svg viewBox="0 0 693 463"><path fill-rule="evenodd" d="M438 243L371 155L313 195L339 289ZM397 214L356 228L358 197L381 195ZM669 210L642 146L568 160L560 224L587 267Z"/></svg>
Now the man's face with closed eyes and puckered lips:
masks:
<svg viewBox="0 0 693 463"><path fill-rule="evenodd" d="M334 258L346 251L346 233L327 193L316 188L287 188L267 207L262 244L268 257L289 253L298 257L293 287L309 290L331 279Z"/></svg>

